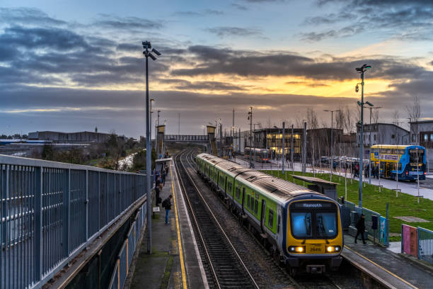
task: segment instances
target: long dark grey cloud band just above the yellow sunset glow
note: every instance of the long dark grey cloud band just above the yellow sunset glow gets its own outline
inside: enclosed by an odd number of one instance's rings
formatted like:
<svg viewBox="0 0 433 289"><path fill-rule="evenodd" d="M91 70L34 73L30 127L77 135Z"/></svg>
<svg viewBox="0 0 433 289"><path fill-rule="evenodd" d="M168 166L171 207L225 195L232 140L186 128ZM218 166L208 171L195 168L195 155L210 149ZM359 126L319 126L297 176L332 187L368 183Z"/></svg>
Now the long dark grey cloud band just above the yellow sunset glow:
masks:
<svg viewBox="0 0 433 289"><path fill-rule="evenodd" d="M354 70L364 63L374 69L369 77L379 79L414 78L425 69L408 60L393 57L333 57L330 61L296 55L291 52L252 52L216 48L203 45L191 46L187 50L195 67L173 69L173 76L198 76L214 74L235 74L240 77L291 76L306 79L345 80L357 78Z"/></svg>

